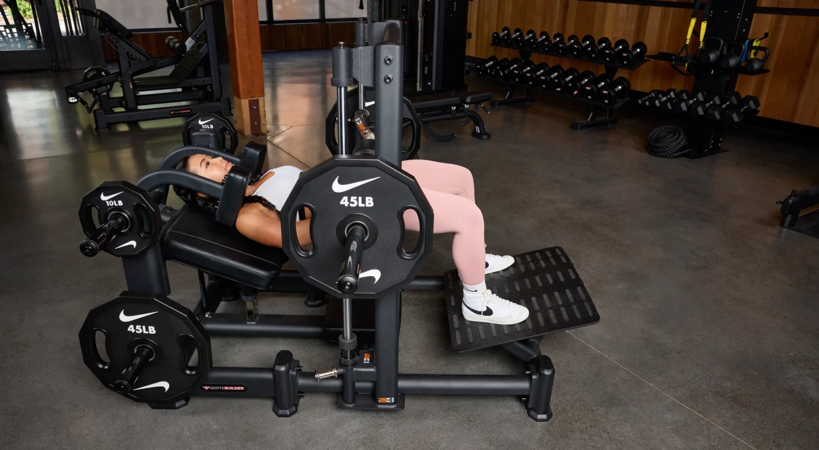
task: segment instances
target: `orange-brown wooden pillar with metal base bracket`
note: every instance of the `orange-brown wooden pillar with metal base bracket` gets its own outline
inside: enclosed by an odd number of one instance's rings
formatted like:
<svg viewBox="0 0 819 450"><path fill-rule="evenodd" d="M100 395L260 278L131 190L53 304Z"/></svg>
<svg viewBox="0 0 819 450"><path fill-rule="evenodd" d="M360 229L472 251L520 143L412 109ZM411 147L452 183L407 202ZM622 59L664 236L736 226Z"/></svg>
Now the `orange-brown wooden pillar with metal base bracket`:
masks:
<svg viewBox="0 0 819 450"><path fill-rule="evenodd" d="M224 21L228 29L236 129L242 134L260 136L267 133L267 120L258 2L224 0Z"/></svg>

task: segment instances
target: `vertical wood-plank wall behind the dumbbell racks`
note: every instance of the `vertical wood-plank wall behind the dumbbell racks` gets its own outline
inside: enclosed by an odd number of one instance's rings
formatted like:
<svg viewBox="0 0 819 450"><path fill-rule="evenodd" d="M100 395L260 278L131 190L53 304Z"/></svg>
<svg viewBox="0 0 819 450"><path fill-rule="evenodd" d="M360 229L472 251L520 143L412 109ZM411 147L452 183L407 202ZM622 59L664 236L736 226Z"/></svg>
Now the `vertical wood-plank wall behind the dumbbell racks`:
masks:
<svg viewBox="0 0 819 450"><path fill-rule="evenodd" d="M689 2L690 0L675 0ZM760 7L819 8L817 0L759 0ZM607 36L629 43L643 41L650 53L676 53L685 42L690 10L684 8L643 7L581 0L474 0L470 5L468 29L473 38L467 43L467 54L486 58L513 58L518 52L491 47L491 34L501 27L546 30L564 36L591 34ZM697 25L699 29L699 25ZM740 75L737 90L759 97L760 114L772 119L819 126L819 17L815 16L754 16L750 36L771 36L763 45L771 48L766 68L769 74ZM697 48L692 38L691 48ZM592 70L602 73L602 65L568 60L557 56L534 55L535 62L545 61L563 68ZM668 63L650 61L637 70L620 70L636 90L686 88L694 77L677 74Z"/></svg>

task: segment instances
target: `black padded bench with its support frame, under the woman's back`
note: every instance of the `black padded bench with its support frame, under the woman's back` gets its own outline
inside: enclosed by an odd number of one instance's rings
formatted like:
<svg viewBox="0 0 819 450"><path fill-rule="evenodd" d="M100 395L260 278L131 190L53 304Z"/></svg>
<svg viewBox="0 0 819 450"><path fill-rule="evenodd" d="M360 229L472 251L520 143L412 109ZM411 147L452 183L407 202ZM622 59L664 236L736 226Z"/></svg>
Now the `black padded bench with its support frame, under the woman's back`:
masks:
<svg viewBox="0 0 819 450"><path fill-rule="evenodd" d="M298 328L301 337L336 340L342 332L341 300L328 302L324 292L307 284L298 272L282 269L287 262L283 250L251 241L235 228L217 223L210 212L188 205L179 209L163 230L165 259L200 273L202 299L193 312L210 335L291 336ZM205 273L210 277L207 284ZM224 295L230 297L232 288L223 290L225 281L239 285L233 289L241 291L247 304L247 321L233 313L216 313L219 304L227 299ZM259 314L256 292L305 292L307 306L327 304L327 310L324 315ZM238 299L238 295L231 299ZM353 330L365 341L373 335L373 308L373 300L357 300L353 306Z"/></svg>

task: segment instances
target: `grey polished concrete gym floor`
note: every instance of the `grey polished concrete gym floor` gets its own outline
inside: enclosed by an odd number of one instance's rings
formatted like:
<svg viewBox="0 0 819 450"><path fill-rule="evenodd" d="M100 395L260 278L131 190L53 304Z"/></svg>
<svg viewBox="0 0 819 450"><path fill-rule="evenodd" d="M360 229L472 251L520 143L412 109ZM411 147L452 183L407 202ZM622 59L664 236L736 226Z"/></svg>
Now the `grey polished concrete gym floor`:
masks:
<svg viewBox="0 0 819 450"><path fill-rule="evenodd" d="M333 104L328 52L265 54L269 165L324 160ZM557 379L548 424L515 398L410 396L396 413L350 412L309 394L281 419L269 399L193 398L153 411L105 389L82 362L89 308L124 289L120 263L82 256L79 199L134 181L181 145L183 119L95 133L62 87L79 74L0 75L0 448L799 449L819 442L819 241L778 227L774 201L817 183L819 155L734 133L721 155L662 160L635 116L575 132L583 110L550 99L484 115L489 141L424 137L421 155L477 182L495 253L562 245L602 320L548 335ZM474 86L481 80L470 80ZM494 88L499 88L495 86ZM502 92L498 91L499 95ZM437 237L426 274L452 267ZM192 306L196 274L169 264L171 297ZM297 296L263 312L317 313ZM450 349L437 291L405 294L402 372L515 373L498 349ZM318 340L215 338L218 365L269 367L290 349L307 369Z"/></svg>

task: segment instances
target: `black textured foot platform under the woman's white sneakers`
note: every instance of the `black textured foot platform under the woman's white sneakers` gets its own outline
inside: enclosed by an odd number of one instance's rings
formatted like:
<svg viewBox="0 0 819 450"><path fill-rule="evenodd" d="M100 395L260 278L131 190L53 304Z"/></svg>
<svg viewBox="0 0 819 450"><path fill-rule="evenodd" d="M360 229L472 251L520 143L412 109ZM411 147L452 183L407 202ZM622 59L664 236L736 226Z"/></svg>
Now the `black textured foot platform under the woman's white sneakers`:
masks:
<svg viewBox="0 0 819 450"><path fill-rule="evenodd" d="M486 276L486 287L529 309L515 325L468 322L461 313L464 288L457 270L444 275L452 349L462 353L600 322L589 291L561 247L514 257L509 268Z"/></svg>

